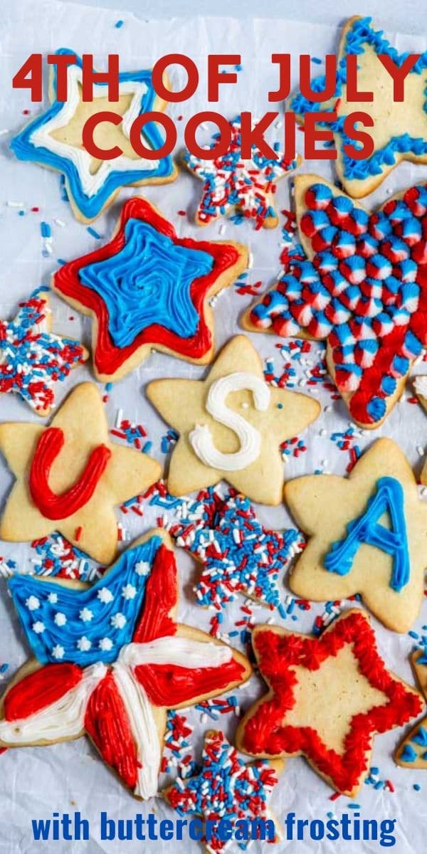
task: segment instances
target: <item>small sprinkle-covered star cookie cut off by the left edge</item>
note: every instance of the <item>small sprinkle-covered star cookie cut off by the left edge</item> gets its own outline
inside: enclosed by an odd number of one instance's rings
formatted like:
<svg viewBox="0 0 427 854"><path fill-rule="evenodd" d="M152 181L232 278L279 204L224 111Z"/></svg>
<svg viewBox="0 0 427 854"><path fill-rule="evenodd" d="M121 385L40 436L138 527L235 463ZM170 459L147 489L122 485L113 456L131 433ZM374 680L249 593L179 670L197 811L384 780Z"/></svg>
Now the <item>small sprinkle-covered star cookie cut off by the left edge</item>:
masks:
<svg viewBox="0 0 427 854"><path fill-rule="evenodd" d="M44 288L20 302L13 320L0 320L0 393L19 395L42 416L55 406L56 383L89 356L79 342L53 335L51 325Z"/></svg>

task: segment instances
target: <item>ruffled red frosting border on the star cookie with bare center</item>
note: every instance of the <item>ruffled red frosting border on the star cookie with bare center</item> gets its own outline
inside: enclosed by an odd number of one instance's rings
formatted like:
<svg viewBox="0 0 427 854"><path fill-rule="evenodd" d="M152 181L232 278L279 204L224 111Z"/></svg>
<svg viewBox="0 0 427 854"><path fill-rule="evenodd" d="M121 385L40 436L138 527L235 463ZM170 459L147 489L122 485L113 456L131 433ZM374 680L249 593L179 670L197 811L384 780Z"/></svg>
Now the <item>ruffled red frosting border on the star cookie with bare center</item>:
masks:
<svg viewBox="0 0 427 854"><path fill-rule="evenodd" d="M423 709L420 697L386 670L377 652L375 634L361 611L349 611L319 638L278 635L272 629L260 629L253 642L260 673L272 694L261 700L252 717L243 721L243 749L267 757L303 753L342 793L351 794L359 786L368 769L373 735L401 726ZM295 705L293 687L297 677L293 668L299 665L319 670L326 658L335 657L347 644L352 645L360 673L389 699L384 705L354 715L345 738L345 751L340 755L325 745L313 727L287 726L284 719ZM333 702L332 697L330 704Z"/></svg>

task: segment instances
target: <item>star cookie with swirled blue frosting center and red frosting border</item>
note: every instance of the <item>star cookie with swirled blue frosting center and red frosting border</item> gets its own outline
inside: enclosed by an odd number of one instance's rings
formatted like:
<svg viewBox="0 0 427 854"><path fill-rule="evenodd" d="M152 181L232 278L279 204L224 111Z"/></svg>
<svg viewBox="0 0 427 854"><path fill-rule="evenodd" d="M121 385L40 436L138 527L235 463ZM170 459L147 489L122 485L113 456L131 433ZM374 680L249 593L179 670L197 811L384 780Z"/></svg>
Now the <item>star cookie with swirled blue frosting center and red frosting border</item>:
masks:
<svg viewBox="0 0 427 854"><path fill-rule="evenodd" d="M241 243L178 237L154 205L133 197L111 242L62 266L52 284L94 319L94 369L108 382L132 371L153 348L200 365L212 361L208 301L247 264Z"/></svg>

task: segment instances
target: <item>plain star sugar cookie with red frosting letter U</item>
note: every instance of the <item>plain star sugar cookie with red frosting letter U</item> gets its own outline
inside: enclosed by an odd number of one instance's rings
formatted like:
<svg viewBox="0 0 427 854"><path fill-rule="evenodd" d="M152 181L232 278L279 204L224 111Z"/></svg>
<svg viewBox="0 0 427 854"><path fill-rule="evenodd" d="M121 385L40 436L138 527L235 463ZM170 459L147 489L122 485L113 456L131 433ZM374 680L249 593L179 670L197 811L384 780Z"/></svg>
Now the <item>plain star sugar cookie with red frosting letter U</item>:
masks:
<svg viewBox="0 0 427 854"><path fill-rule="evenodd" d="M110 442L93 383L73 389L49 427L0 424L0 451L15 475L0 537L32 541L58 530L102 564L117 551L114 506L161 474L161 465L146 453Z"/></svg>

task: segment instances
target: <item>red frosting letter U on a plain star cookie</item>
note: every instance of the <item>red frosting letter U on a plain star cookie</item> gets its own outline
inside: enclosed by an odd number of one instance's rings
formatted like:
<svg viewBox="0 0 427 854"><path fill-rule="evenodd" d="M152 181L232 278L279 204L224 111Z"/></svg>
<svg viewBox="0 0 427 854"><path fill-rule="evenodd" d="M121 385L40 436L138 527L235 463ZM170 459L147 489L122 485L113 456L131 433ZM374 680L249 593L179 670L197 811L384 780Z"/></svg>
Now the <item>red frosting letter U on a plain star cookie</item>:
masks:
<svg viewBox="0 0 427 854"><path fill-rule="evenodd" d="M47 519L66 519L84 507L91 500L111 457L107 445L97 445L79 479L58 495L50 488L49 475L64 441L61 428L48 427L38 439L32 457L28 486L34 504Z"/></svg>

